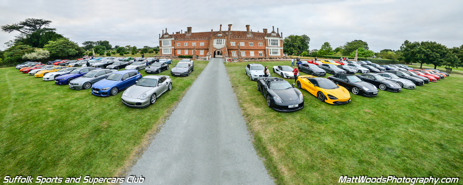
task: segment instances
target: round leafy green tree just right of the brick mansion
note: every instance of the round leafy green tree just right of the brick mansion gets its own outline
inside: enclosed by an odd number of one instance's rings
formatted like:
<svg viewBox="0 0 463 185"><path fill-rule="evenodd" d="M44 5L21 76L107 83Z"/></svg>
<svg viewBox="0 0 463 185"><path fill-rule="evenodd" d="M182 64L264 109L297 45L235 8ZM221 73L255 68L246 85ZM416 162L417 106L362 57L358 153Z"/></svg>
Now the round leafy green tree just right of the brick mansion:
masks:
<svg viewBox="0 0 463 185"><path fill-rule="evenodd" d="M283 52L290 55L309 49L310 38L307 35L290 35L283 40Z"/></svg>

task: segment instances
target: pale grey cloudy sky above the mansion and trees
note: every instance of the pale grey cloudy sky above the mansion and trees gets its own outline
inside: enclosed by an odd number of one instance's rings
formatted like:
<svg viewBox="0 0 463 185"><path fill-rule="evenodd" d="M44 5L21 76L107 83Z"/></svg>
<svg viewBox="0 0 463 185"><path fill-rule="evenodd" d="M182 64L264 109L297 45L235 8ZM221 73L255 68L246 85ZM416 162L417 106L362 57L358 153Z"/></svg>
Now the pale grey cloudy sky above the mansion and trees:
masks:
<svg viewBox="0 0 463 185"><path fill-rule="evenodd" d="M169 33L252 31L272 26L288 35L310 37L310 49L333 49L363 40L375 52L399 49L405 40L463 44L463 0L0 0L0 25L27 18L53 21L50 27L81 44L157 46ZM17 32L0 32L0 49Z"/></svg>

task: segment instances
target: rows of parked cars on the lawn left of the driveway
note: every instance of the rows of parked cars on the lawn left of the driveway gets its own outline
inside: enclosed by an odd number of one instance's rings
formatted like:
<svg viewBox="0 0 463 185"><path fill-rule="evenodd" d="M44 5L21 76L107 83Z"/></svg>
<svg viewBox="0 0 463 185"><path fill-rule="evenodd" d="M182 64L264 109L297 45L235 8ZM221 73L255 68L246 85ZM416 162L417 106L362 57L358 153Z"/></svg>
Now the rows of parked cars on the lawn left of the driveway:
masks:
<svg viewBox="0 0 463 185"><path fill-rule="evenodd" d="M143 60L144 59L144 60ZM75 90L91 89L95 96L112 96L125 89L122 102L130 107L146 107L155 103L162 93L172 89L172 79L165 75L142 76L140 69L148 74L169 70L171 59L127 57L117 60L115 57L81 58L75 61L56 60L49 64L24 62L16 66L22 73L41 77L45 81L54 80L56 85L69 85ZM58 62L58 63L56 63ZM68 62L68 63L66 63ZM150 65L146 68L146 62ZM86 66L87 63L91 65ZM125 70L117 68L118 64L127 64ZM143 63L138 67L137 63ZM63 64L63 65L61 65ZM107 65L106 65L107 64ZM113 65L113 66L112 66ZM114 67L116 65L116 67ZM193 72L193 60L183 59L170 73L174 76L188 76Z"/></svg>

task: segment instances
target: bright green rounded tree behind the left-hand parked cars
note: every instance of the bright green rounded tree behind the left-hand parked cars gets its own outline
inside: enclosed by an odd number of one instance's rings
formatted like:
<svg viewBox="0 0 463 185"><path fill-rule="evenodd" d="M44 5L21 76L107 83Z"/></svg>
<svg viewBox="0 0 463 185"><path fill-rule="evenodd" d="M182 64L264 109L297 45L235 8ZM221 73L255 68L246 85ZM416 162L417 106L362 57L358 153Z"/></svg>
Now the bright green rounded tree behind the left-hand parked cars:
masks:
<svg viewBox="0 0 463 185"><path fill-rule="evenodd" d="M69 38L59 38L56 41L50 41L44 46L44 49L50 51L50 57L67 58L69 56L80 55L84 49L79 47L77 43L69 40Z"/></svg>

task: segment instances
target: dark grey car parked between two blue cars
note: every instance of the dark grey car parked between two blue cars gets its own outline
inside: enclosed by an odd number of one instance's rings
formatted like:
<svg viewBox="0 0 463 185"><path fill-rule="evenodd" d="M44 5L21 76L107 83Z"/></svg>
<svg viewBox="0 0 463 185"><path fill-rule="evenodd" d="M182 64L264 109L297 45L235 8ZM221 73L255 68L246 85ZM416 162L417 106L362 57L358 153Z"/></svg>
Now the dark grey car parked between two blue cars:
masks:
<svg viewBox="0 0 463 185"><path fill-rule="evenodd" d="M103 80L108 77L113 72L117 72L116 69L95 69L93 71L89 71L87 74L71 80L69 82L69 88L80 90L80 89L88 89L92 87L97 81Z"/></svg>

